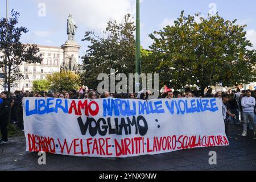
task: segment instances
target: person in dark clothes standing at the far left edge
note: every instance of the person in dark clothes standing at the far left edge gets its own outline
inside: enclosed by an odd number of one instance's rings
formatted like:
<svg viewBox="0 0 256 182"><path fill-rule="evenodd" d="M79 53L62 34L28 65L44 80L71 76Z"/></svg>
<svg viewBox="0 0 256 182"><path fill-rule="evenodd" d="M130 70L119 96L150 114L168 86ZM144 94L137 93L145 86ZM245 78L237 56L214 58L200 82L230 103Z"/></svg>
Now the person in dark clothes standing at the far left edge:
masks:
<svg viewBox="0 0 256 182"><path fill-rule="evenodd" d="M2 139L0 140L0 144L8 143L7 124L10 116L11 100L10 98L7 98L7 96L8 96L7 92L1 93L2 103L0 104L0 129L1 129Z"/></svg>

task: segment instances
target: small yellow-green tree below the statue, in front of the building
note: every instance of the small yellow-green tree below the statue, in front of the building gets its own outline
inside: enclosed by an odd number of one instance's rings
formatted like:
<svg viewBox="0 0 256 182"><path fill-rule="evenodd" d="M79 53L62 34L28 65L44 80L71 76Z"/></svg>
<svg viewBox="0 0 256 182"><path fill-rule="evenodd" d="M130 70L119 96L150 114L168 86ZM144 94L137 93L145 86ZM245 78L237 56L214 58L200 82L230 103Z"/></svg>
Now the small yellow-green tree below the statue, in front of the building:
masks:
<svg viewBox="0 0 256 182"><path fill-rule="evenodd" d="M46 77L48 82L47 88L55 92L69 91L71 89L78 90L80 88L79 76L71 71L62 71L53 73Z"/></svg>

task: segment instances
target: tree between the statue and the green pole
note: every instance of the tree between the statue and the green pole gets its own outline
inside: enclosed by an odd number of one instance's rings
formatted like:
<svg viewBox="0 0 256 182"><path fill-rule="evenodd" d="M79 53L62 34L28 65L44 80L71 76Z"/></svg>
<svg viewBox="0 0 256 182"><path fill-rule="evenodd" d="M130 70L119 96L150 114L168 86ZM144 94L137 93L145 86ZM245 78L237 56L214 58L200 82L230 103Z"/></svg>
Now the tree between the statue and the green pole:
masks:
<svg viewBox="0 0 256 182"><path fill-rule="evenodd" d="M101 81L97 81L100 73L110 75L110 69L115 73L134 73L135 71L135 26L130 14L125 16L123 23L109 21L104 35L99 38L94 32L85 32L83 41L89 41L86 55L82 57L84 73L82 84L96 89Z"/></svg>

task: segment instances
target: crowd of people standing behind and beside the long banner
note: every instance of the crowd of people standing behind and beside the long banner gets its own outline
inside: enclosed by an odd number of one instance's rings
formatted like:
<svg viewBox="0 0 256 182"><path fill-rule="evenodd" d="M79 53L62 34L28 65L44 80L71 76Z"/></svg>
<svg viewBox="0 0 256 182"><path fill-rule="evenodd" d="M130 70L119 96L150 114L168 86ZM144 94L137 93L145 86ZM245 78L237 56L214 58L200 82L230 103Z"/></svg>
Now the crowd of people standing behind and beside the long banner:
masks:
<svg viewBox="0 0 256 182"><path fill-rule="evenodd" d="M122 99L140 99L148 100L152 93L148 90L142 90L138 94L113 94L109 92L98 93L95 90L83 90L78 92L75 89L69 92L51 93L51 92L20 92L15 91L11 96L7 92L1 93L0 99L0 128L2 139L0 144L8 142L7 125L9 121L18 126L19 130L24 131L23 126L23 107L22 100L24 97L55 97L63 99L84 99L95 100L99 98L122 98ZM209 88L207 93L201 94L200 90L191 90L186 88L184 92L178 90L168 90L168 92L160 93L158 98L191 98L191 97L216 97L222 98L222 114L225 123L225 130L228 133L228 125L242 125L242 136L246 137L247 130L254 130L254 139L256 139L256 110L255 98L256 90L228 90L228 92L217 92L213 94L213 90Z"/></svg>

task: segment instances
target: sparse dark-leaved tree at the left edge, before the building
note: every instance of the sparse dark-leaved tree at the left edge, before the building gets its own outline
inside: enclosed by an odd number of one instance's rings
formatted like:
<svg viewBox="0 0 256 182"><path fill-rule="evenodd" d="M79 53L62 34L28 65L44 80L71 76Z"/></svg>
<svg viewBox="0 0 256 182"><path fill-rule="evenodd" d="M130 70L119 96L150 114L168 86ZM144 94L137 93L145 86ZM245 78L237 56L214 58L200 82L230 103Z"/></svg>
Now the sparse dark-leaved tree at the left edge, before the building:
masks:
<svg viewBox="0 0 256 182"><path fill-rule="evenodd" d="M39 48L35 44L22 44L20 36L28 32L25 27L17 27L19 13L11 11L11 18L0 19L0 65L5 67L5 80L10 94L14 81L24 79L24 75L19 71L19 65L25 63L40 63L42 57L38 55ZM7 59L6 59L7 58Z"/></svg>

